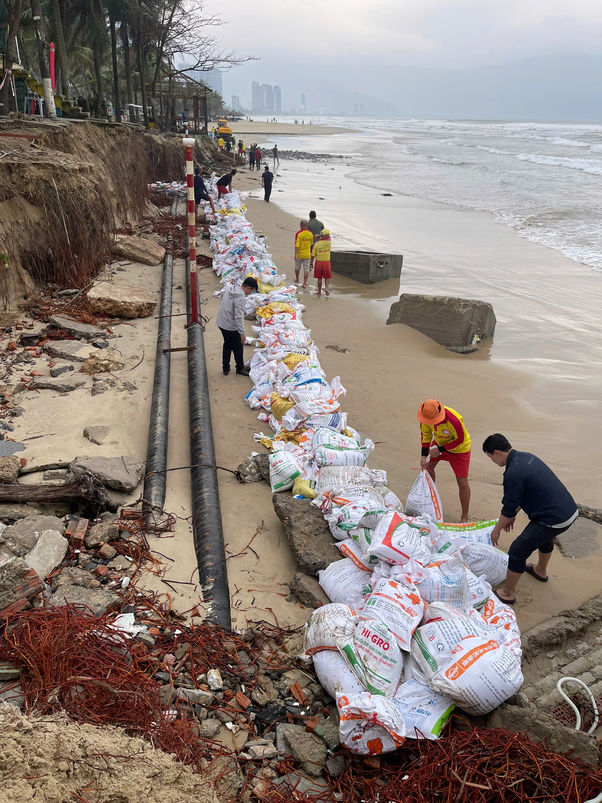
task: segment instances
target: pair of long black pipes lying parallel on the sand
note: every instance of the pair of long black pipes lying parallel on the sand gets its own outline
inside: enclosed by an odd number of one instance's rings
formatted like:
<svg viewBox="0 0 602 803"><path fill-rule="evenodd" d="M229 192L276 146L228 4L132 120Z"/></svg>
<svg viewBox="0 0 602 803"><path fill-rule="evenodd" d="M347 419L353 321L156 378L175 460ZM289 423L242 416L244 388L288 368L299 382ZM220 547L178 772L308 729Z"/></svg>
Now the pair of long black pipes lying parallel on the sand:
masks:
<svg viewBox="0 0 602 803"><path fill-rule="evenodd" d="M177 199L171 214L177 212ZM165 507L167 486L167 442L169 427L169 373L171 367L171 314L173 257L165 254L161 283L161 308L157 357L153 382L153 403L148 426L148 450L142 508L147 521L159 518ZM200 304L198 305L200 308ZM190 315L190 273L186 259L186 308ZM230 590L226 570L226 549L219 502L218 470L215 464L214 432L211 424L205 341L201 324L188 329L188 403L190 437L190 490L192 498L193 543L197 556L199 585L208 605L207 619L230 630Z"/></svg>

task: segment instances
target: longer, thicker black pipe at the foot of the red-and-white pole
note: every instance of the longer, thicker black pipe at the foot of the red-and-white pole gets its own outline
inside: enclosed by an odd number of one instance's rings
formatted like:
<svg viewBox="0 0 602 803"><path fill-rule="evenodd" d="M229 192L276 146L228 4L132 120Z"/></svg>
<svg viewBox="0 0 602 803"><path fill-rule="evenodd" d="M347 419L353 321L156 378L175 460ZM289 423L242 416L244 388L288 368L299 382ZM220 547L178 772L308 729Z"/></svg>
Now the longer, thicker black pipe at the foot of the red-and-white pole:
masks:
<svg viewBox="0 0 602 803"><path fill-rule="evenodd" d="M186 308L190 297L190 263L186 259ZM200 304L199 304L200 307ZM190 490L192 496L194 552L207 618L230 630L230 588L226 548L219 503L218 468L215 464L214 430L211 424L205 340L201 324L188 327L188 403L190 426Z"/></svg>

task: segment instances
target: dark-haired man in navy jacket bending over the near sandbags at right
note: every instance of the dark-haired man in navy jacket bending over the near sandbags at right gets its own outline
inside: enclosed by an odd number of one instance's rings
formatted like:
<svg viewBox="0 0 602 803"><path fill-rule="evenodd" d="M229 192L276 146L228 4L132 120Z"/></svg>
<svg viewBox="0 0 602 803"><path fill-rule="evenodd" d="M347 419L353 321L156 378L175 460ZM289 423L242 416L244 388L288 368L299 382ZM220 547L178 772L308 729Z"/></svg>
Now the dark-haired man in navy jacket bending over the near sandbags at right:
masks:
<svg viewBox="0 0 602 803"><path fill-rule="evenodd" d="M506 582L495 592L502 602L514 605L516 586L523 573L547 583L547 564L554 549L554 538L571 526L579 510L563 483L535 454L513 449L499 433L485 439L483 451L496 466L506 467L502 480L502 513L491 533L491 543L497 546L502 530L514 529L519 510L529 517L527 527L510 544ZM537 563L527 563L535 550L538 551Z"/></svg>

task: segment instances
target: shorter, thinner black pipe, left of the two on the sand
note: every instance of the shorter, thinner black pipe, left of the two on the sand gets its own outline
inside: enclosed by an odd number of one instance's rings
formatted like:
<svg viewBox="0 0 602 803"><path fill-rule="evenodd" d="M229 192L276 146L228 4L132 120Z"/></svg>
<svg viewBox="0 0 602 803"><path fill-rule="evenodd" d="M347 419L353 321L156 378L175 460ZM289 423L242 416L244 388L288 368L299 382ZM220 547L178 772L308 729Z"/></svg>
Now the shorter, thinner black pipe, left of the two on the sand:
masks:
<svg viewBox="0 0 602 803"><path fill-rule="evenodd" d="M173 247L168 238L167 247ZM148 446L146 450L146 473L142 510L146 512L147 524L161 518L165 507L167 487L167 434L169 426L169 372L172 334L172 287L173 256L165 251L163 259L163 279L161 281L161 304L159 306L159 333L157 336L157 355L155 357L155 378L153 381L153 403L148 423Z"/></svg>

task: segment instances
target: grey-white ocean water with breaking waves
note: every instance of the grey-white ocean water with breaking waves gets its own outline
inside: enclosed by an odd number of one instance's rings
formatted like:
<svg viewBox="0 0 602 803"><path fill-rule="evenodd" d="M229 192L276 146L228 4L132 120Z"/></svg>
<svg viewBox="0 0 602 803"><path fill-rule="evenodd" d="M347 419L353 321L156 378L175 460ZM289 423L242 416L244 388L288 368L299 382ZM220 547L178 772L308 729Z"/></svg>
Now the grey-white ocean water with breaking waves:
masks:
<svg viewBox="0 0 602 803"><path fill-rule="evenodd" d="M602 124L357 117L320 124L360 132L281 137L279 146L344 153L346 175L359 184L492 212L521 237L602 271Z"/></svg>

